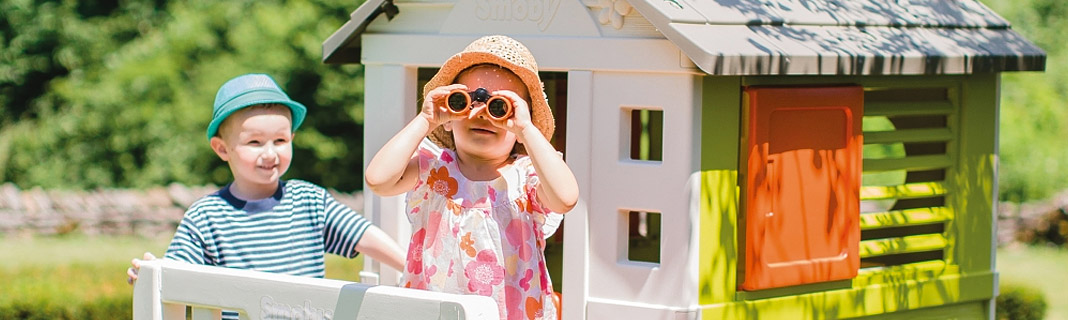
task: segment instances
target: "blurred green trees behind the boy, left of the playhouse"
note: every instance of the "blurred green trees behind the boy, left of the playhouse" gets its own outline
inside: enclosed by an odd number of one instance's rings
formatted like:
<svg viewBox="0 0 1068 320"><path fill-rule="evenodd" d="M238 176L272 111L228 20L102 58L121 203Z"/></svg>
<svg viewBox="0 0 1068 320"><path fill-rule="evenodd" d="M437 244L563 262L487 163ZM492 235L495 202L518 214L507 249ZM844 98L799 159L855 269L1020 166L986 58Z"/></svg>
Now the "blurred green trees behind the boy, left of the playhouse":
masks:
<svg viewBox="0 0 1068 320"><path fill-rule="evenodd" d="M37 65L50 73L40 84L47 87L43 93L20 98L4 92L26 101L0 110L11 115L3 118L19 116L29 127L0 130L0 179L63 189L224 185L230 172L204 137L215 93L234 76L265 73L310 109L286 177L360 189L363 130L355 118L363 113L356 84L361 67L320 62L321 41L358 4L141 0L89 10L95 6L0 0L0 15L11 16L0 25L40 20L44 26L32 28L62 35L26 39L44 47L29 54L36 60L19 58L17 70L0 69L0 90L6 78L32 78ZM52 12L53 19L31 19ZM51 20L58 22L45 23ZM10 50L0 58L19 55ZM3 76L9 74L14 76ZM7 87L28 87L16 84Z"/></svg>

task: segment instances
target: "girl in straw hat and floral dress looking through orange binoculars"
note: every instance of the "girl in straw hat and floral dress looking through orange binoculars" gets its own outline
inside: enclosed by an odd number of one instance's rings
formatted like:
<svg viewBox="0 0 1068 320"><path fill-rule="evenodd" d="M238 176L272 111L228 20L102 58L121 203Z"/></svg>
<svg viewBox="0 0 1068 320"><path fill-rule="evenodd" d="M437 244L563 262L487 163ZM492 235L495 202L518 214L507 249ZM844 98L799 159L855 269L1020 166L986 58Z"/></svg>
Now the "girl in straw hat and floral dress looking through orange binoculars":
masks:
<svg viewBox="0 0 1068 320"><path fill-rule="evenodd" d="M378 195L408 192L405 286L488 295L501 319L555 319L545 238L579 192L549 144L553 118L533 57L509 37L482 37L424 93L420 114L365 173ZM427 137L434 144L421 143Z"/></svg>

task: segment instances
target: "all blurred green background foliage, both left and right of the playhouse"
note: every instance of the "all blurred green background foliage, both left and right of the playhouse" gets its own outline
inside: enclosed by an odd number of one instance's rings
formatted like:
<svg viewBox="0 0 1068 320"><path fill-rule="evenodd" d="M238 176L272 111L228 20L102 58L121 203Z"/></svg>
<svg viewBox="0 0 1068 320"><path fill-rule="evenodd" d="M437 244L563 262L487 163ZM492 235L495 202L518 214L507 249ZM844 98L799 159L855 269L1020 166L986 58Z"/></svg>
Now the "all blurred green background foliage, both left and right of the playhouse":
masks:
<svg viewBox="0 0 1068 320"><path fill-rule="evenodd" d="M1068 189L1068 2L980 0L1048 50L1002 82L1000 198ZM286 178L362 186L362 69L321 42L360 1L0 0L0 180L22 188L224 185L215 91L266 73L310 108Z"/></svg>

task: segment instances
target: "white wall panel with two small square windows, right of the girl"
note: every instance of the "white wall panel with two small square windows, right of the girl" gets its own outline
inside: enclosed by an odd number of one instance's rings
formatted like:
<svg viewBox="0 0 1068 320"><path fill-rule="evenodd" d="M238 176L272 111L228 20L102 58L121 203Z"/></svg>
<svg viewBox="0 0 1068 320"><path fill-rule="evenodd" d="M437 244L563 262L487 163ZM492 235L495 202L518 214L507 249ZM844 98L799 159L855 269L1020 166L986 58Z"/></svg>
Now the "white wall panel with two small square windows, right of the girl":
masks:
<svg viewBox="0 0 1068 320"><path fill-rule="evenodd" d="M700 77L666 73L590 73L588 122L568 123L568 130L588 126L592 132L571 140L568 151L590 149L582 175L590 186L587 205L590 250L586 282L590 319L677 319L697 308L698 205L691 196L700 187L690 177L700 171ZM571 93L574 91L569 91ZM631 160L630 110L663 112L662 161ZM574 132L571 132L574 133ZM584 139L583 139L584 138ZM578 140L578 141L576 141ZM576 141L576 144L571 144ZM693 180L696 181L696 180ZM660 262L628 261L629 211L661 213ZM568 221L570 223L570 221ZM570 225L568 225L570 227ZM568 231L570 231L568 229ZM569 251L565 261L583 253ZM566 271L565 271L566 272ZM566 286L567 284L565 284ZM564 294L566 299L570 294ZM684 315L693 318L696 313Z"/></svg>

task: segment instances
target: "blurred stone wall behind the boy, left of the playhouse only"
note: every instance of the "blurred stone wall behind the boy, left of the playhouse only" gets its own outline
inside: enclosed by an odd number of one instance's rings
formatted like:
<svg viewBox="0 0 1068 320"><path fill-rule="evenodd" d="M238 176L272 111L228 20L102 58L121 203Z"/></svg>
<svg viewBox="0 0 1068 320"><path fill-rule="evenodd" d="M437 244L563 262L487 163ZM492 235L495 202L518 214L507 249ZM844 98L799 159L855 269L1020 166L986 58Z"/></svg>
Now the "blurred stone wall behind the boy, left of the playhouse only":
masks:
<svg viewBox="0 0 1068 320"><path fill-rule="evenodd" d="M0 236L173 235L186 208L217 190L216 186L182 185L143 190L20 190L4 183L0 186ZM331 193L362 211L362 194Z"/></svg>

